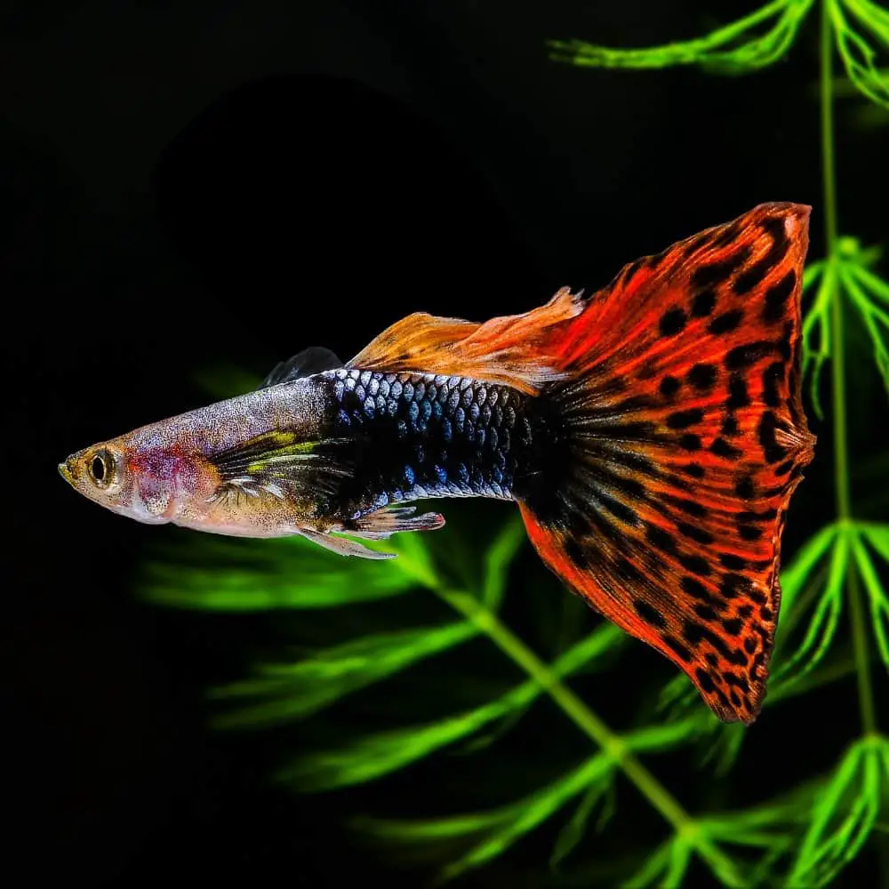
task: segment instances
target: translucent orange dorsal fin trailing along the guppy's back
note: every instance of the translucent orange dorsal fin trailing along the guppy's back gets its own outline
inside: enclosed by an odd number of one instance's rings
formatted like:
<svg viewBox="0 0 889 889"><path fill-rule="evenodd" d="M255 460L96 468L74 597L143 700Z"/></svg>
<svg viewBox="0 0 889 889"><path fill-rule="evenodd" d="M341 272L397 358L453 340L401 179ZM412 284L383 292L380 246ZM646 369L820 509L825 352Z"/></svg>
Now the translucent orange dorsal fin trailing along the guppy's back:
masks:
<svg viewBox="0 0 889 889"><path fill-rule="evenodd" d="M583 305L580 294L563 287L545 306L485 324L417 312L380 333L346 366L473 377L534 394L564 375L542 348L550 329L579 315Z"/></svg>

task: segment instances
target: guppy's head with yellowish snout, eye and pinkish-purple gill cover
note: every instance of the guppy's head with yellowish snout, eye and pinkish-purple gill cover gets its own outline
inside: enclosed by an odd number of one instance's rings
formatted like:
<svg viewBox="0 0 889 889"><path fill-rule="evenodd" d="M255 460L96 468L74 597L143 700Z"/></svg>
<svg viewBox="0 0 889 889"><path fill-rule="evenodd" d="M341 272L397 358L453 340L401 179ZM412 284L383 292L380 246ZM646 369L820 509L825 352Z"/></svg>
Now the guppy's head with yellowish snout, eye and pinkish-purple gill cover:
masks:
<svg viewBox="0 0 889 889"><path fill-rule="evenodd" d="M88 500L149 525L173 521L185 503L218 485L209 461L150 427L77 451L59 472Z"/></svg>

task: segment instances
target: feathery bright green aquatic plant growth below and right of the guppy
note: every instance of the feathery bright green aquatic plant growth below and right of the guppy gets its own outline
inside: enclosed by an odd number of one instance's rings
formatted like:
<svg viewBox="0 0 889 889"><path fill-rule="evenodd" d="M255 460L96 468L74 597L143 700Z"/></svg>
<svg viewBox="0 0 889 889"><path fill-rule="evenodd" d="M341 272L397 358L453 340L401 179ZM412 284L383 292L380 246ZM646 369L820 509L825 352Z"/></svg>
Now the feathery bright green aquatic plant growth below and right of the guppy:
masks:
<svg viewBox="0 0 889 889"><path fill-rule="evenodd" d="M700 39L651 49L576 40L550 47L555 60L585 67L700 65L743 74L789 52L815 6L777 0ZM837 228L833 123L837 53L848 83L889 107L889 79L877 66L877 48L889 48L889 12L869 0L821 0L820 27L817 215L826 248L805 276L805 370L816 412L832 420L837 514L781 573L766 708L814 701L855 677L860 732L845 749L828 751L835 760L824 774L774 793L763 782L758 802L734 806L713 786L719 782L669 786L665 760L680 764L670 773L731 775L743 765L749 730L719 723L683 676L666 683L660 706L645 689L622 708L602 695L597 677L650 655L623 645L611 624L597 624L530 557L517 517L487 532L502 516L491 504L471 515L449 510L458 519L445 533L396 537L399 557L382 572L301 539L189 537L188 549L179 543L145 566L141 589L155 602L286 621L300 648L260 659L250 677L213 689L217 725L276 732L299 725L276 779L304 793L396 786L401 773L422 775L435 792L412 799L410 817L398 811L402 791L394 800L361 797L373 812L351 821L401 860L432 866L437 882L496 861L509 868L517 846L545 842L524 885L560 885L564 877L565 885L823 886L889 833L889 740L876 692L889 669L889 525L853 509L845 414L849 324L861 324L889 385L889 284L877 271L877 249ZM254 382L208 378L220 396ZM870 471L879 477L885 461ZM455 761L471 777L458 780L449 771Z"/></svg>

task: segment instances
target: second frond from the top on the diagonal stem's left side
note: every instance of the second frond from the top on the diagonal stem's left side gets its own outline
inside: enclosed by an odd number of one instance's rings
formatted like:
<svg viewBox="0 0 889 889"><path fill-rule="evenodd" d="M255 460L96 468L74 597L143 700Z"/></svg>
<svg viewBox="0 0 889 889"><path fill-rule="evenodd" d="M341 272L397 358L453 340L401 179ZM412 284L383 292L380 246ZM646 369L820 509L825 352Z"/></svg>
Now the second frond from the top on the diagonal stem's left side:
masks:
<svg viewBox="0 0 889 889"><path fill-rule="evenodd" d="M477 633L467 621L418 627L355 639L295 663L262 665L257 677L212 691L216 699L252 699L248 706L216 717L214 725L256 728L307 717Z"/></svg>

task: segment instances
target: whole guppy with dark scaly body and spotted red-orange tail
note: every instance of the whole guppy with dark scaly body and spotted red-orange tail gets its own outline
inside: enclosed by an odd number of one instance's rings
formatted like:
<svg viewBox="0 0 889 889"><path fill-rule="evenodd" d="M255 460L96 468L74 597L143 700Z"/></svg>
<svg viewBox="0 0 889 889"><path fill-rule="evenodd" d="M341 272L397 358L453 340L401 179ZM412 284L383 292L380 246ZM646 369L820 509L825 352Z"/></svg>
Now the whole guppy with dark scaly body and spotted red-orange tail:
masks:
<svg viewBox="0 0 889 889"><path fill-rule="evenodd" d="M307 348L255 391L60 473L140 522L373 559L393 554L362 541L445 524L412 501L514 501L569 589L749 724L815 445L800 396L810 210L759 204L524 314L414 313L348 362Z"/></svg>

